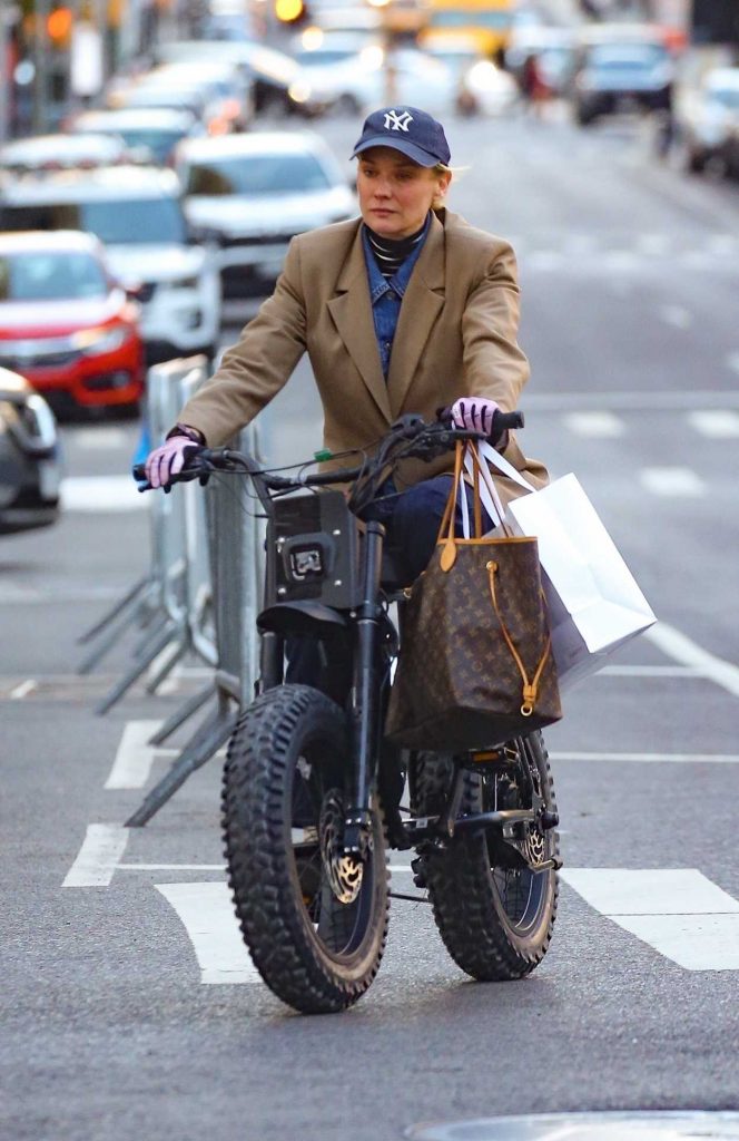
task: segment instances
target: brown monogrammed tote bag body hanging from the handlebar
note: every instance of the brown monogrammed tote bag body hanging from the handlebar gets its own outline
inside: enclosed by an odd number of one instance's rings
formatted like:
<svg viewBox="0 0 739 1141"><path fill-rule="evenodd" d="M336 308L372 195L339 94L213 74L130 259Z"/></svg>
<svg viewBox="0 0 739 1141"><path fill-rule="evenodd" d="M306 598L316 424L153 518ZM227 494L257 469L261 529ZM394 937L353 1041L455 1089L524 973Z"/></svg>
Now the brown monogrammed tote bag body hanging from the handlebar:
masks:
<svg viewBox="0 0 739 1141"><path fill-rule="evenodd" d="M558 721L562 710L551 652L534 712L521 714L523 680L490 598L487 564L494 560L501 615L531 679L549 639L536 540L457 542L448 573L440 568L440 550L403 607L387 736L408 748L460 751L498 745Z"/></svg>

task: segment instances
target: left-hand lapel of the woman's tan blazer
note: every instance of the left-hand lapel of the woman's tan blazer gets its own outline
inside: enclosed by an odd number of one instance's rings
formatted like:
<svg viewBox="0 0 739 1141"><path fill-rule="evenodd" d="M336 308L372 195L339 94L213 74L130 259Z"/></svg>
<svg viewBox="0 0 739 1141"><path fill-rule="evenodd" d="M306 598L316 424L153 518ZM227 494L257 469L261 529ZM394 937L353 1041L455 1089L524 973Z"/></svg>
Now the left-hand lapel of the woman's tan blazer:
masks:
<svg viewBox="0 0 739 1141"><path fill-rule="evenodd" d="M336 297L331 298L327 306L347 353L370 389L377 407L390 423L392 419L390 400L388 386L382 375L380 350L374 331L360 227L357 227L349 257L339 275Z"/></svg>

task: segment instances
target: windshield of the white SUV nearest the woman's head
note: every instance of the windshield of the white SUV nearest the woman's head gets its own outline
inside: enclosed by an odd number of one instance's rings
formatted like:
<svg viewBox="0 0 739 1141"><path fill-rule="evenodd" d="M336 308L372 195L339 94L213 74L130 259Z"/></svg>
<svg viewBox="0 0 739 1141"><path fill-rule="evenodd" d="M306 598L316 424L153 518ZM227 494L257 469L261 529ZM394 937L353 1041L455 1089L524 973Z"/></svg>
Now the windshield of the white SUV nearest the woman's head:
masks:
<svg viewBox="0 0 739 1141"><path fill-rule="evenodd" d="M330 186L325 170L311 154L259 154L193 163L186 193L271 195Z"/></svg>

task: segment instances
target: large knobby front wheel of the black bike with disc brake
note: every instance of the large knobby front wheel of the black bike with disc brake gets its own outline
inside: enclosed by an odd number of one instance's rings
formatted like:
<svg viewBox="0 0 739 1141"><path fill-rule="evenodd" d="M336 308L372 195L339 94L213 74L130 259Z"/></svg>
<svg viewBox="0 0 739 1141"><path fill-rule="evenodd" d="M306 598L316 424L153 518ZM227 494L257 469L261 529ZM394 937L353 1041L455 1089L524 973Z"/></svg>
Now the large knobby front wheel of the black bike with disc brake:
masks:
<svg viewBox="0 0 739 1141"><path fill-rule="evenodd" d="M236 915L283 1002L331 1013L371 985L388 931L382 815L365 858L342 849L351 772L347 719L308 686L281 686L241 715L224 771L222 826Z"/></svg>

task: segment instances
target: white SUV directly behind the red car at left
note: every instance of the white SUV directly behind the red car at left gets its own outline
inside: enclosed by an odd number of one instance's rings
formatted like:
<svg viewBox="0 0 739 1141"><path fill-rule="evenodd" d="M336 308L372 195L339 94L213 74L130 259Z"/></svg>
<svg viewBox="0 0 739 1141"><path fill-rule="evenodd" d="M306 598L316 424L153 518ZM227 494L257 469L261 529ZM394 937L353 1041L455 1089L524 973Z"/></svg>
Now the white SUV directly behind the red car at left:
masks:
<svg viewBox="0 0 739 1141"><path fill-rule="evenodd" d="M147 359L214 355L218 270L188 232L173 171L109 167L16 179L0 189L0 229L95 234L115 276L138 290Z"/></svg>

